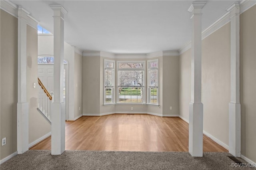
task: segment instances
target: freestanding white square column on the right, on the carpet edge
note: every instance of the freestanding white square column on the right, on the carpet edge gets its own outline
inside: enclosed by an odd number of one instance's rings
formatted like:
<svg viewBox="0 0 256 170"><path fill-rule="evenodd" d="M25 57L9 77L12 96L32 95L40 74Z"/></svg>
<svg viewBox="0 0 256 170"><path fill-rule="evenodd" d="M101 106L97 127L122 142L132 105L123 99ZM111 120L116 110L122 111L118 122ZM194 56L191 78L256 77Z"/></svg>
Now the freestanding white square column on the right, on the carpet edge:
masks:
<svg viewBox="0 0 256 170"><path fill-rule="evenodd" d="M202 83L202 8L206 2L193 2L192 12L192 55L191 55L191 101L189 103L189 143L192 156L203 156L203 104Z"/></svg>

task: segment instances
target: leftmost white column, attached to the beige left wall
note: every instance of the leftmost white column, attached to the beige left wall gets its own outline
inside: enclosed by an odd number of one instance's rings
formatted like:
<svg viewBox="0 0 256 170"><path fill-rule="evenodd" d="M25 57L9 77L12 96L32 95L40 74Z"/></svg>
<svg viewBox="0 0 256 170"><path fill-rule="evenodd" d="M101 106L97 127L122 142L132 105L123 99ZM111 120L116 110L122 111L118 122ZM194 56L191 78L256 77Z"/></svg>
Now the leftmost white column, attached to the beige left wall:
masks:
<svg viewBox="0 0 256 170"><path fill-rule="evenodd" d="M18 7L18 103L17 103L17 150L22 154L28 150L28 102L27 102L27 15Z"/></svg>

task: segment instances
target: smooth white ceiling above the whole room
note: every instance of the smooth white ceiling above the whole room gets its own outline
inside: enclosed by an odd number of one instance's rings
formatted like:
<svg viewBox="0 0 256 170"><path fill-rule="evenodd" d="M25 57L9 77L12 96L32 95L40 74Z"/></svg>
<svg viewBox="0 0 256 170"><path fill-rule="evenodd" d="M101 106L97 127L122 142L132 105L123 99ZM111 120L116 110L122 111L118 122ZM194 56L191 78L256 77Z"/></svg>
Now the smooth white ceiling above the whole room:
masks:
<svg viewBox="0 0 256 170"><path fill-rule="evenodd" d="M74 1L12 0L23 6L53 33L53 11L60 4L64 16L64 40L82 50L110 53L152 53L178 50L191 40L193 1ZM202 10L202 30L226 13L234 0L206 1Z"/></svg>

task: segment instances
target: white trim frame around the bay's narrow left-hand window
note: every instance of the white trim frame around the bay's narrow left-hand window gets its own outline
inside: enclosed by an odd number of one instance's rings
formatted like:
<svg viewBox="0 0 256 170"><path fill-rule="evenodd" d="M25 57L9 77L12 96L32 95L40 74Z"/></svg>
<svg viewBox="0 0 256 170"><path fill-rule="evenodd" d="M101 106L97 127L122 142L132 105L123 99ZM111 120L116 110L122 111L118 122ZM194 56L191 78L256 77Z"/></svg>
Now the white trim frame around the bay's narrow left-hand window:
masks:
<svg viewBox="0 0 256 170"><path fill-rule="evenodd" d="M106 67L106 62L110 62L113 63L113 68L110 67ZM115 72L115 68L116 68L116 61L114 60L108 60L108 59L104 59L104 105L113 105L115 104L115 88L116 88L116 72ZM106 73L105 70L109 69L109 70L113 70L113 86L112 86L112 102L111 103L106 103Z"/></svg>

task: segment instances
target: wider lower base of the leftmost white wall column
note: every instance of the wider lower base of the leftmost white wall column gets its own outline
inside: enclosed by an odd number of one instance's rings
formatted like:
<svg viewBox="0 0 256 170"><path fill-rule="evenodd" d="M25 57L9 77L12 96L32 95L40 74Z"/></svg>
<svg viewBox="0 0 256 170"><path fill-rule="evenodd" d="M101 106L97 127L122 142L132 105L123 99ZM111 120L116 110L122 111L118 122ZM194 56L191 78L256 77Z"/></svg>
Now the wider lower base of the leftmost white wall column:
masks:
<svg viewBox="0 0 256 170"><path fill-rule="evenodd" d="M17 103L17 150L18 154L28 150L28 102Z"/></svg>

